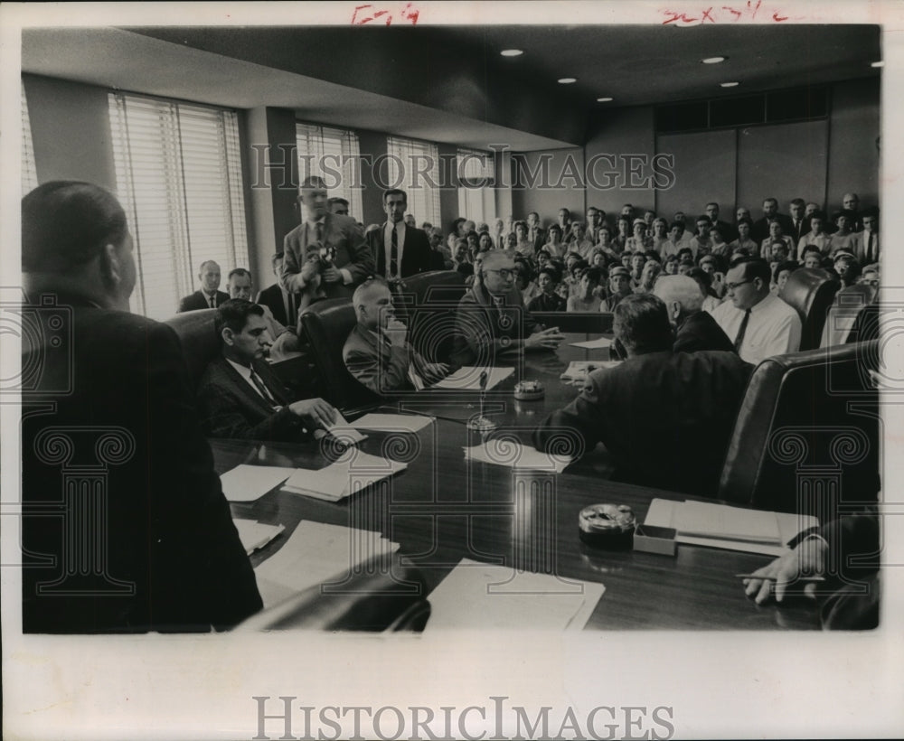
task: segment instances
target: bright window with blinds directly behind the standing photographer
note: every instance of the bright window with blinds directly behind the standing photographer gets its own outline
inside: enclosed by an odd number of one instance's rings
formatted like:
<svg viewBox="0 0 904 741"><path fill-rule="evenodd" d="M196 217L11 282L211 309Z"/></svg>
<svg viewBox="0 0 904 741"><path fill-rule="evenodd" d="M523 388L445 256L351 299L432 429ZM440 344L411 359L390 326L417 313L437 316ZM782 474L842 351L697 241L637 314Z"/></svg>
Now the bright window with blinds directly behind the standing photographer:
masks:
<svg viewBox="0 0 904 741"><path fill-rule="evenodd" d="M296 124L298 181L320 175L330 198L344 198L350 216L363 217L361 204L361 146L358 135L341 128Z"/></svg>

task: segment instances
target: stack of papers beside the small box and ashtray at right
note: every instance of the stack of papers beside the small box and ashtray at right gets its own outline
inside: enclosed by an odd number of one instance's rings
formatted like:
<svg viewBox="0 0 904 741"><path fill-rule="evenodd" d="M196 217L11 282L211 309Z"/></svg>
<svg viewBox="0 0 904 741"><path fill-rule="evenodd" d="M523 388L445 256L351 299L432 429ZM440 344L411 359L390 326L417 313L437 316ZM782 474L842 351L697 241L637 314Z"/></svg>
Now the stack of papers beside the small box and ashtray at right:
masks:
<svg viewBox="0 0 904 741"><path fill-rule="evenodd" d="M679 543L781 556L789 540L819 521L812 515L654 499L645 524L678 530Z"/></svg>

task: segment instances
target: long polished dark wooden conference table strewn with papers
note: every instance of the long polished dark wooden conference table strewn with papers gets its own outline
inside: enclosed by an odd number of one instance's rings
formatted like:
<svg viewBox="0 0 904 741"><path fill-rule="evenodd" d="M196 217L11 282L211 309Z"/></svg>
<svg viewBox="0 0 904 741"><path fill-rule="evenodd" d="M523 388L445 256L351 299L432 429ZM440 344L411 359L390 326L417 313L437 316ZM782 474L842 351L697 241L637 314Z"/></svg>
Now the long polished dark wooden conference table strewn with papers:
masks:
<svg viewBox="0 0 904 741"><path fill-rule="evenodd" d="M516 436L530 444L546 414L570 402L579 387L560 380L570 361L606 361L607 349L570 345L592 336L569 333L558 352L527 353L508 379L485 395L485 417L497 425L491 435ZM517 380L538 380L544 399L513 399ZM408 467L339 502L325 502L279 487L255 502L232 502L234 517L282 524L286 531L256 551L257 566L287 542L300 521L317 521L381 532L400 544L399 555L417 567L428 591L461 558L601 582L606 591L586 629L775 630L819 628L812 601L786 598L756 605L744 595L739 573L766 565L757 554L679 544L677 556L590 547L579 539L578 515L598 502L627 504L643 522L656 498L684 500L664 492L608 480L611 464L602 447L561 474L515 470L466 461L465 446L481 442L466 422L481 411L473 391L424 390L387 401L379 411L402 410L435 416L435 423L410 432L368 431L359 449L404 461ZM353 419L349 420L353 422ZM328 446L212 439L218 473L238 464L317 469L330 462ZM504 448L504 446L503 446ZM651 465L656 461L651 459Z"/></svg>

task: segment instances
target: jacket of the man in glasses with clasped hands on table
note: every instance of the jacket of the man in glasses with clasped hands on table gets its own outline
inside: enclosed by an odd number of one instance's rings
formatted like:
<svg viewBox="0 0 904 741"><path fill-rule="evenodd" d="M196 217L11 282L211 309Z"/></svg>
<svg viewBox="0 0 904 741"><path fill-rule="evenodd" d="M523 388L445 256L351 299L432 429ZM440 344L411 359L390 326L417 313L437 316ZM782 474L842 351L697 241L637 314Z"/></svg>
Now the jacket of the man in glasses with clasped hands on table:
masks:
<svg viewBox="0 0 904 741"><path fill-rule="evenodd" d="M484 286L472 286L458 302L452 363L464 366L516 360L522 351L520 341L539 328L514 286L502 309L494 305Z"/></svg>

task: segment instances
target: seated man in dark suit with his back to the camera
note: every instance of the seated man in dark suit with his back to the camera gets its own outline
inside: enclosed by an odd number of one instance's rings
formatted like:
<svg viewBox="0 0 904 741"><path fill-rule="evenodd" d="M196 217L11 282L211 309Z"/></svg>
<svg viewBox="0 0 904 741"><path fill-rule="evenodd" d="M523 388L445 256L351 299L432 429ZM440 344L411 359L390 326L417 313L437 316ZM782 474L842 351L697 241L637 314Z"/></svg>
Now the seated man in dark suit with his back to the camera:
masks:
<svg viewBox="0 0 904 741"><path fill-rule="evenodd" d="M541 423L534 445L549 451L577 435L586 452L606 446L618 481L714 495L751 366L734 352L673 353L668 312L651 294L623 299L613 330L627 360L590 373L578 398Z"/></svg>

